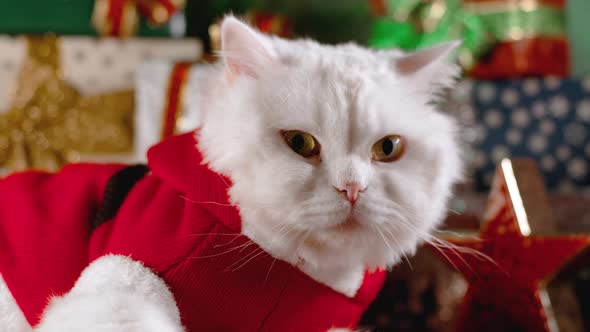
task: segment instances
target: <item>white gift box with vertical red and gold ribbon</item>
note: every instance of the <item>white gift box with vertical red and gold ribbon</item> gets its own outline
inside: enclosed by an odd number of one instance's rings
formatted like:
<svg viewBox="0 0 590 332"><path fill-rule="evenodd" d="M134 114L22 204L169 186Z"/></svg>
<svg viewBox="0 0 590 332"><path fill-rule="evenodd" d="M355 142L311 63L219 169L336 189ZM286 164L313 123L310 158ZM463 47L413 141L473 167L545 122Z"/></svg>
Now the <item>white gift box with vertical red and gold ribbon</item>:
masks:
<svg viewBox="0 0 590 332"><path fill-rule="evenodd" d="M200 126L202 92L210 68L194 62L150 61L136 82L135 153L145 160L150 146Z"/></svg>

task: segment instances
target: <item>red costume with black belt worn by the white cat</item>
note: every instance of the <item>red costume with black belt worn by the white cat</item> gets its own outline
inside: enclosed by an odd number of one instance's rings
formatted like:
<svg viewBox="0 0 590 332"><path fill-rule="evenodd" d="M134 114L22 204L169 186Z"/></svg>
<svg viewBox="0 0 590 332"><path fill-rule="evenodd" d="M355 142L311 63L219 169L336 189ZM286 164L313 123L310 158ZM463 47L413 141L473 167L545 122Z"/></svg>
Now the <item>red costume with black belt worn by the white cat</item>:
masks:
<svg viewBox="0 0 590 332"><path fill-rule="evenodd" d="M0 180L0 274L32 325L51 295L67 292L108 253L128 255L160 276L187 331L356 325L383 272L367 273L351 298L266 253L228 269L259 248L240 246L249 240L228 204L229 180L202 165L195 146L187 134L153 147L149 172L79 164Z"/></svg>

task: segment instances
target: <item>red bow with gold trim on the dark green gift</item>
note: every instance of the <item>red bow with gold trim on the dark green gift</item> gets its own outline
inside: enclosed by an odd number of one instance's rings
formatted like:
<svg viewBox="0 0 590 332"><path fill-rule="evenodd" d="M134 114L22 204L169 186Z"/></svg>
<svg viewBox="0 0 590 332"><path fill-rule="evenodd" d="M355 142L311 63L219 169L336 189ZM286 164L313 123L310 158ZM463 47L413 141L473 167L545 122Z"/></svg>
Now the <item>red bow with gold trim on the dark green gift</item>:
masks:
<svg viewBox="0 0 590 332"><path fill-rule="evenodd" d="M181 10L185 0L96 0L92 23L103 36L130 36L139 24L139 14L160 26Z"/></svg>

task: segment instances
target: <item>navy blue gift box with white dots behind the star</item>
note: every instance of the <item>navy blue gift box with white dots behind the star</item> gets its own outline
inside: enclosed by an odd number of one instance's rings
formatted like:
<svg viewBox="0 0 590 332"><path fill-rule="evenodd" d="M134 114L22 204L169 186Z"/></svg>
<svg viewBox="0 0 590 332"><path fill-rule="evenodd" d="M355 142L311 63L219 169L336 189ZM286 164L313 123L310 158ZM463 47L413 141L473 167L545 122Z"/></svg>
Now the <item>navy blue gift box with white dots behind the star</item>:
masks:
<svg viewBox="0 0 590 332"><path fill-rule="evenodd" d="M590 79L474 81L472 171L489 188L504 157L537 161L546 186L590 186Z"/></svg>

